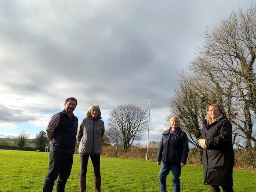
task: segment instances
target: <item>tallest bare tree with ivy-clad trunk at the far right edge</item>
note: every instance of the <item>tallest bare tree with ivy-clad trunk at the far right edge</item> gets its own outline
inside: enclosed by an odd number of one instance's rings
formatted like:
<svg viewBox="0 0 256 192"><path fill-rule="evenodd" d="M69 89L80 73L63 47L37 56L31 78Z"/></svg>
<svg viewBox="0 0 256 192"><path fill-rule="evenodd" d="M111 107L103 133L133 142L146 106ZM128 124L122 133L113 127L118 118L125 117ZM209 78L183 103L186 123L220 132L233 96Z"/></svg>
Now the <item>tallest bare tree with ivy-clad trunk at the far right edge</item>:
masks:
<svg viewBox="0 0 256 192"><path fill-rule="evenodd" d="M207 58L208 64L211 62L206 70L225 82L222 85L225 90L227 84L232 84L229 92L232 105L238 100L238 105L234 107L236 119L232 119L232 123L238 130L236 134L246 140L245 147L251 147L256 141L253 136L253 116L256 115L256 6L246 11L233 11L212 31L206 30L202 37L206 41L199 54Z"/></svg>

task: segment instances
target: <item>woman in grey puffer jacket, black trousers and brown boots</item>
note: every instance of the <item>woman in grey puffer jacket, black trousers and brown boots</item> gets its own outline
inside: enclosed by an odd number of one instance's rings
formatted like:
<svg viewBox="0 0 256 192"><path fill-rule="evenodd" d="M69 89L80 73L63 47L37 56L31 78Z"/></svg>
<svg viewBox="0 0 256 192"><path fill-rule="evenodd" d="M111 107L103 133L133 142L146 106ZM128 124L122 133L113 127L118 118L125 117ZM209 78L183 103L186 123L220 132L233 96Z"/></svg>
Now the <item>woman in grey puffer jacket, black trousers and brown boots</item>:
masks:
<svg viewBox="0 0 256 192"><path fill-rule="evenodd" d="M98 105L92 104L85 118L78 125L76 139L79 143L81 172L79 176L80 192L86 191L86 172L89 156L94 168L95 191L100 192L100 154L102 150L102 136L104 135L104 121L101 120L101 112Z"/></svg>

